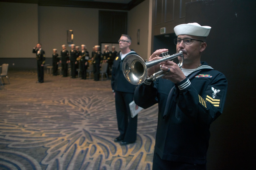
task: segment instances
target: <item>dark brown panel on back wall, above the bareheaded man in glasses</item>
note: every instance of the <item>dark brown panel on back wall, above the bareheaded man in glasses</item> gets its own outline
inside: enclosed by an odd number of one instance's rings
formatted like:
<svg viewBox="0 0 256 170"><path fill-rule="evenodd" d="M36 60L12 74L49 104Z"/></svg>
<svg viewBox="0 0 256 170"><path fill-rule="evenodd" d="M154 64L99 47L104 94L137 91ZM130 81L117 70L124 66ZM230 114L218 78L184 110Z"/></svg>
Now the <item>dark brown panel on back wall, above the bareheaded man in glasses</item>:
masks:
<svg viewBox="0 0 256 170"><path fill-rule="evenodd" d="M118 43L127 34L127 12L99 11L99 44Z"/></svg>

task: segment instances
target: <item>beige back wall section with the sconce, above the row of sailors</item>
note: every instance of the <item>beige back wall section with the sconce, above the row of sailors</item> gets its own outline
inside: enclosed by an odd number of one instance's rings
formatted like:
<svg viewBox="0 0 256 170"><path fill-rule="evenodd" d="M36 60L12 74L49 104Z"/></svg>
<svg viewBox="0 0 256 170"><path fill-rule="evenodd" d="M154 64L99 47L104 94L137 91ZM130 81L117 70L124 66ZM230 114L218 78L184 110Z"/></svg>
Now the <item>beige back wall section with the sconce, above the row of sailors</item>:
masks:
<svg viewBox="0 0 256 170"><path fill-rule="evenodd" d="M73 30L75 45L81 49L81 44L85 44L91 52L92 47L98 45L98 11L91 8L39 6L39 41L46 57L52 57L53 48L57 48L59 53L61 45L67 45L67 30ZM67 46L67 49L71 48Z"/></svg>

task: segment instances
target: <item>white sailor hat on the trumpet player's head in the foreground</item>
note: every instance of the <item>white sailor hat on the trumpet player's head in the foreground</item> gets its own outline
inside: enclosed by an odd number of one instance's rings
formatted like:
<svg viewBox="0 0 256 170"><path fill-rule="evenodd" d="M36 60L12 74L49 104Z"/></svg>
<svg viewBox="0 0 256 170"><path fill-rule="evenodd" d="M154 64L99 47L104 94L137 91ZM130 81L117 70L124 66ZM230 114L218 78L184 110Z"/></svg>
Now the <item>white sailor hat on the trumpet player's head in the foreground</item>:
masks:
<svg viewBox="0 0 256 170"><path fill-rule="evenodd" d="M211 27L200 26L198 23L180 24L174 27L175 34L178 35L194 35L200 37L207 37L210 33Z"/></svg>

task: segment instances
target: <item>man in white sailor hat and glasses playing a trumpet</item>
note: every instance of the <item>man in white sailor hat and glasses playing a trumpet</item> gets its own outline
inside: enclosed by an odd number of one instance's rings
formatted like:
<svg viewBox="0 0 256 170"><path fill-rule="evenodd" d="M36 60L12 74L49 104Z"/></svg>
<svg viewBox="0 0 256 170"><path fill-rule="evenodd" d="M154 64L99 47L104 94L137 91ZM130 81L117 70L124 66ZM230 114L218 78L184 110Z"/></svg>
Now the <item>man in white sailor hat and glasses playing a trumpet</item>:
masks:
<svg viewBox="0 0 256 170"><path fill-rule="evenodd" d="M167 60L161 63L163 70L169 70L166 76L145 81L134 92L138 106L158 103L153 170L206 169L210 124L222 114L227 94L225 75L200 60L210 29L198 23L176 26L174 43L177 52L183 51L182 68ZM149 61L166 51L156 50ZM159 65L149 68L148 76Z"/></svg>

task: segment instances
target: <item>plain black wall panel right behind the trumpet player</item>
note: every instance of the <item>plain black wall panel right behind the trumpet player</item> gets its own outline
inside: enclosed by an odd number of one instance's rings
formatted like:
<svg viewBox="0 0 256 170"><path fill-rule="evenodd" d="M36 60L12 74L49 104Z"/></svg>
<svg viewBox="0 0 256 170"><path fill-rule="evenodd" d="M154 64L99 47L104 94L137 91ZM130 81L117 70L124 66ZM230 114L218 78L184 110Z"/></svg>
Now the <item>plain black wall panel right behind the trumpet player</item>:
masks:
<svg viewBox="0 0 256 170"><path fill-rule="evenodd" d="M202 59L228 79L225 110L212 125L207 169L255 168L256 1L186 4L186 23L211 26Z"/></svg>

